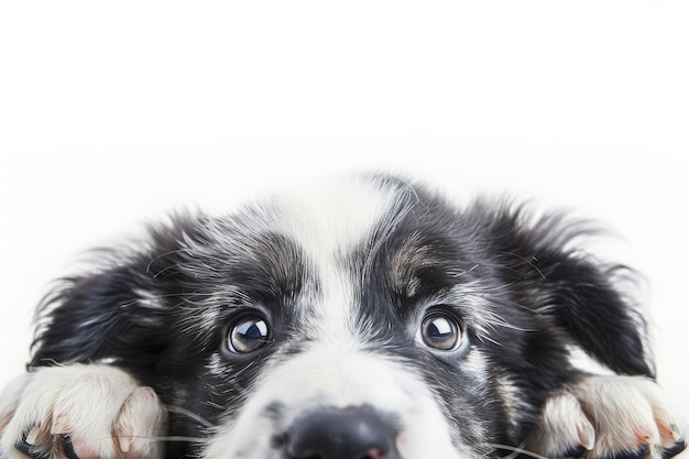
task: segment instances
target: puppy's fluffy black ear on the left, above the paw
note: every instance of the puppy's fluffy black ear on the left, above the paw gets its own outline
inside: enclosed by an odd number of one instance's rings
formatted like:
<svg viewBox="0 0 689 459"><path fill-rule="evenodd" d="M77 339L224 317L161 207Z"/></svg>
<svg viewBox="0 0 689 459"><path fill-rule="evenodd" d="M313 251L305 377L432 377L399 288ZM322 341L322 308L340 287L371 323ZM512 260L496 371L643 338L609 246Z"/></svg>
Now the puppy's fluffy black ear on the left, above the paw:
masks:
<svg viewBox="0 0 689 459"><path fill-rule="evenodd" d="M64 278L40 305L30 368L114 359L152 368L168 346L167 304L178 297L175 253L190 220L151 230L146 249L98 251L88 273Z"/></svg>

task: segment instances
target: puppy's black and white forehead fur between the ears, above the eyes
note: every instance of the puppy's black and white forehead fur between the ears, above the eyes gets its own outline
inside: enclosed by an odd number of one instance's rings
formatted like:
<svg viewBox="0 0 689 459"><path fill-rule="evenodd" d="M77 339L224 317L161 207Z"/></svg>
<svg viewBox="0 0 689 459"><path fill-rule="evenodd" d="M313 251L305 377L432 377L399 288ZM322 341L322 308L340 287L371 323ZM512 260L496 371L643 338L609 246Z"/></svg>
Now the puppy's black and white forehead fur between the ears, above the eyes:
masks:
<svg viewBox="0 0 689 459"><path fill-rule="evenodd" d="M332 330L351 330L358 312L407 317L409 304L486 274L468 250L473 238L457 243L451 209L397 178L349 176L204 218L195 236L183 236L176 261L188 278L206 281L199 288L238 305L272 302L313 328L327 319Z"/></svg>

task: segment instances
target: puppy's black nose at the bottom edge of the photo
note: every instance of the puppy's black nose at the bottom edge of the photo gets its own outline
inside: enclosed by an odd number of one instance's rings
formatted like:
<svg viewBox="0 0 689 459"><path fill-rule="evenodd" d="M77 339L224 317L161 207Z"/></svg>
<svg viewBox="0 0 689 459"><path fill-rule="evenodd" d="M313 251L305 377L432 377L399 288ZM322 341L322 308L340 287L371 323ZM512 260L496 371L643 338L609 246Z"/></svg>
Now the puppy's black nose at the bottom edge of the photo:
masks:
<svg viewBox="0 0 689 459"><path fill-rule="evenodd" d="M394 422L373 407L322 407L298 417L286 436L288 459L398 459Z"/></svg>

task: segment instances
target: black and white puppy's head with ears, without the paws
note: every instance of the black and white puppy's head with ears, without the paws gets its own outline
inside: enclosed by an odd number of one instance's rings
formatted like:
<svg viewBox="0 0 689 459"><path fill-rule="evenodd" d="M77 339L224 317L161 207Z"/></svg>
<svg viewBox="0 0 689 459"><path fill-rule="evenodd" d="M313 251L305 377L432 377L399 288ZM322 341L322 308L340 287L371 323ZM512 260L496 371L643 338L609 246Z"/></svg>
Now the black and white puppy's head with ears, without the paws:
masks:
<svg viewBox="0 0 689 459"><path fill-rule="evenodd" d="M50 297L32 364L128 369L205 419L171 434L209 459L481 457L576 378L573 346L650 373L573 233L389 177L177 218Z"/></svg>

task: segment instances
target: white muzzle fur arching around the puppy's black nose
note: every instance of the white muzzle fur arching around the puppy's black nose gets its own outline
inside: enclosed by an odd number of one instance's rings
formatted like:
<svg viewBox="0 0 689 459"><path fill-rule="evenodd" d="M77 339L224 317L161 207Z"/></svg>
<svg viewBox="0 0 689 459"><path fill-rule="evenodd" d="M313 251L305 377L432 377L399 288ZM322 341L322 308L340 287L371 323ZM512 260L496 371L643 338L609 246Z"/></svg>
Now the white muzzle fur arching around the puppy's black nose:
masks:
<svg viewBox="0 0 689 459"><path fill-rule="evenodd" d="M280 422L266 415L275 403L283 406ZM284 430L304 411L361 405L400 417L404 430L397 448L404 458L475 456L452 445L448 423L423 381L402 363L367 353L350 340L315 342L298 356L273 362L240 416L218 427L205 457L277 458L281 452L271 450L266 431Z"/></svg>

